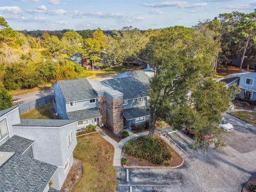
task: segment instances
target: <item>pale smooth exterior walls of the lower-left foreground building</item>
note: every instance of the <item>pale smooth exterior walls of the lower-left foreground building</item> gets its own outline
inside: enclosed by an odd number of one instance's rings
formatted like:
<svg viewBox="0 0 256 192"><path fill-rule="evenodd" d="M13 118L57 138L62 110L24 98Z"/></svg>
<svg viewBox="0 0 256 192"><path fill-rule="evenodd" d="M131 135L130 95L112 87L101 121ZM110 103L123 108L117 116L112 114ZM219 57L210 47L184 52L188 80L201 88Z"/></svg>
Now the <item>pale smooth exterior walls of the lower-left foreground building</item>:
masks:
<svg viewBox="0 0 256 192"><path fill-rule="evenodd" d="M58 166L58 174L53 177L53 188L60 189L66 179L64 166L70 157L70 163L73 163L73 150L77 144L76 141L77 122L65 125L63 127L23 127L13 126L13 133L27 139L34 140L33 154L39 161ZM67 146L67 136L72 131L70 147ZM40 137L38 137L40 135ZM70 164L71 166L72 164Z"/></svg>

